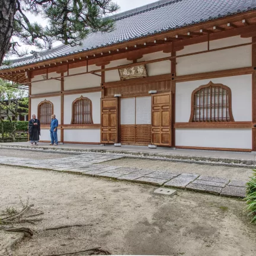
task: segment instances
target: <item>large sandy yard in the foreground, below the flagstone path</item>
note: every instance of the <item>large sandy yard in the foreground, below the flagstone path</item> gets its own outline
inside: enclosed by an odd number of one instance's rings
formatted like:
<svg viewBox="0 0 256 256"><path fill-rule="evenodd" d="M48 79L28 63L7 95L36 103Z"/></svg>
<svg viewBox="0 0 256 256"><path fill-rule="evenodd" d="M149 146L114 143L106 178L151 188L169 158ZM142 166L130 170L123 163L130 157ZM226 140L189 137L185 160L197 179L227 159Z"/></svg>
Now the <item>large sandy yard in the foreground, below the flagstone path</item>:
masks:
<svg viewBox="0 0 256 256"><path fill-rule="evenodd" d="M113 162L113 161L112 161ZM193 169L191 169L193 172ZM68 254L101 247L111 254L252 256L256 228L241 200L82 175L0 165L0 210L29 198L44 212L14 256ZM81 225L46 231L64 225ZM85 254L72 254L85 255Z"/></svg>

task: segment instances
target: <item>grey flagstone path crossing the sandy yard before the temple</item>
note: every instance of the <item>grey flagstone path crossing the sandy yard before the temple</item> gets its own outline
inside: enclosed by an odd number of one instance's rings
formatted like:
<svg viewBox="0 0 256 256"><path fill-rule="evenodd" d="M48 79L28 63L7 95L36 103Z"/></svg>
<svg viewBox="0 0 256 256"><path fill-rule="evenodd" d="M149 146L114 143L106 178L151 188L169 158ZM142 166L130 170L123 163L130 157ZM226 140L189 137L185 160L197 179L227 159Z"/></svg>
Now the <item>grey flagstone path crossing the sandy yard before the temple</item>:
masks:
<svg viewBox="0 0 256 256"><path fill-rule="evenodd" d="M119 181L146 183L161 187L182 188L226 197L244 198L246 183L226 178L208 177L169 171L152 171L148 169L116 167L100 164L105 161L120 159L123 156L82 153L63 159L31 160L1 156L0 164L34 169L47 169L60 172L90 175L93 177L112 178Z"/></svg>

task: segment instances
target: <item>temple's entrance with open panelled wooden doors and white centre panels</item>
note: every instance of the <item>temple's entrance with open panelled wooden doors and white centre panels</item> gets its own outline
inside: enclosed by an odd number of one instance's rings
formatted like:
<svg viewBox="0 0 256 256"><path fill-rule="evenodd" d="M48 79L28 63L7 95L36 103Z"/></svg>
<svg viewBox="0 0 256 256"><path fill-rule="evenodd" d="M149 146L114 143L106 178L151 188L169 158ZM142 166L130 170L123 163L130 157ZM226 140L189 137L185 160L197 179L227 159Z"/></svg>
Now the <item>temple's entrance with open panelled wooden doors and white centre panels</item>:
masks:
<svg viewBox="0 0 256 256"><path fill-rule="evenodd" d="M102 99L101 142L171 146L171 113L171 92Z"/></svg>

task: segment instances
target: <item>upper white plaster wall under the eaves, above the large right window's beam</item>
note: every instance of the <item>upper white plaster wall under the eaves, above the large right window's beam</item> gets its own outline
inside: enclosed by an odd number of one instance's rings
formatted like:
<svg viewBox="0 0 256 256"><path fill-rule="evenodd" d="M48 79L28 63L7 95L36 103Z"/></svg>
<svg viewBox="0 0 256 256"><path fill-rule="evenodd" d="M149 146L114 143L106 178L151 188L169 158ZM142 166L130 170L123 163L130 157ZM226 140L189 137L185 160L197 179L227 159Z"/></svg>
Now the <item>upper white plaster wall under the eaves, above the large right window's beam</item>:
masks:
<svg viewBox="0 0 256 256"><path fill-rule="evenodd" d="M239 36L210 41L210 49L250 43L251 38ZM185 46L177 55L200 52L207 50L207 42ZM225 69L244 68L252 65L252 47L242 46L216 52L201 53L193 56L177 58L177 75L191 75Z"/></svg>

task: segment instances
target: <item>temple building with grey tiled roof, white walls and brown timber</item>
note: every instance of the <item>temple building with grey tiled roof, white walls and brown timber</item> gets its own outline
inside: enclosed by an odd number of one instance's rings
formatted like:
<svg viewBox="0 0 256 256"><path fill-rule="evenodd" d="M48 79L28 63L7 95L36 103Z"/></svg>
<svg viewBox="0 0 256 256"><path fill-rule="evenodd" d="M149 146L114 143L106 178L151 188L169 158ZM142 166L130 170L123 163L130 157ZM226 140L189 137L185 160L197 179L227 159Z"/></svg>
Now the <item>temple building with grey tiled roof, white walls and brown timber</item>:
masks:
<svg viewBox="0 0 256 256"><path fill-rule="evenodd" d="M256 1L160 0L81 46L12 60L50 141L256 151Z"/></svg>

